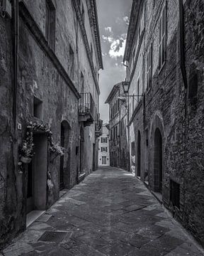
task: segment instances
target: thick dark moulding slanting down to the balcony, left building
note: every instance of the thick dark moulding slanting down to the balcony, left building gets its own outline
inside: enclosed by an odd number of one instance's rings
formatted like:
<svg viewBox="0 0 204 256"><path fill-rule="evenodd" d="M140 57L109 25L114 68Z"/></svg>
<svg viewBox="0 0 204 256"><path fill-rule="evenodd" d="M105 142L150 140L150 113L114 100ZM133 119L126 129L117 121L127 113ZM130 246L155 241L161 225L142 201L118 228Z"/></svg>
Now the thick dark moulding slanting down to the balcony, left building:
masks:
<svg viewBox="0 0 204 256"><path fill-rule="evenodd" d="M62 75L62 78L64 78L64 81L67 83L72 92L74 92L74 95L77 97L77 99L79 99L81 96L79 95L77 88L74 86L72 80L69 78L67 71L60 63L60 60L57 58L55 52L52 50L52 48L50 48L44 34L42 33L38 24L35 22L32 14L30 14L30 11L28 10L24 1L19 2L19 16L21 17L24 24L27 26L28 30L32 33L35 41L37 41L40 48L47 54L53 65L55 65L57 71L60 73L60 75Z"/></svg>

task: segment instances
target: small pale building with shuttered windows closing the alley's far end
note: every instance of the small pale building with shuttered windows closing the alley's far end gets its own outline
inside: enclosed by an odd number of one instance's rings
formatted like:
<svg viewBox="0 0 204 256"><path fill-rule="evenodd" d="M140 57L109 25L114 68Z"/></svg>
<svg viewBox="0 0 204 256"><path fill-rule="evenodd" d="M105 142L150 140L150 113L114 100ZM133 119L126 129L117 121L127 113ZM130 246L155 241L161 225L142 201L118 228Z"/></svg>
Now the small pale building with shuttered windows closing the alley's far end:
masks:
<svg viewBox="0 0 204 256"><path fill-rule="evenodd" d="M109 132L106 124L103 124L102 135L99 137L98 142L98 165L110 166Z"/></svg>

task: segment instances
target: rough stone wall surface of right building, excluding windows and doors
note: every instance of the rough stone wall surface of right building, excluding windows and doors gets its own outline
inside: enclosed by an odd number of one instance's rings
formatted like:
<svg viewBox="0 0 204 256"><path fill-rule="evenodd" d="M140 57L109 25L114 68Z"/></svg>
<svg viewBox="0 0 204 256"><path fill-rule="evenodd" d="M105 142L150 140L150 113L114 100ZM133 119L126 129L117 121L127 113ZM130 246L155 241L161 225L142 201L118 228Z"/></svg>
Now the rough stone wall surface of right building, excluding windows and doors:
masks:
<svg viewBox="0 0 204 256"><path fill-rule="evenodd" d="M166 62L159 65L159 23L166 2ZM181 73L179 1L146 1L145 19L145 105L132 119L142 130L142 180L157 191L155 159L156 131L162 135L162 200L174 217L204 245L203 226L203 1L184 4L184 38L187 87ZM147 91L147 50L152 43L152 87ZM137 68L136 68L137 70ZM136 73L136 71L135 71ZM145 107L145 109L144 109ZM137 110L137 108L136 108ZM145 110L145 112L144 112ZM142 112L145 114L142 117ZM143 120L142 120L143 119ZM130 137L130 140L132 138ZM171 183L179 184L179 207L172 203Z"/></svg>

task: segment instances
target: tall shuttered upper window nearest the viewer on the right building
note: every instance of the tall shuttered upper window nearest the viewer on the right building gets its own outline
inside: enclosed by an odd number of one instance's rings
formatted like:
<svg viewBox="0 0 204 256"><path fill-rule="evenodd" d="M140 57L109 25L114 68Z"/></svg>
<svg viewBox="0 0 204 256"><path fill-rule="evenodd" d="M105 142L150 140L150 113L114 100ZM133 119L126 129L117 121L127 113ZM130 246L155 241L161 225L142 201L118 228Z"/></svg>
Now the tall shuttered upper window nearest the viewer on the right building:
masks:
<svg viewBox="0 0 204 256"><path fill-rule="evenodd" d="M159 20L159 70L166 60L166 5L162 9L162 16Z"/></svg>

